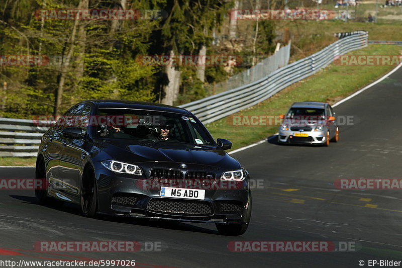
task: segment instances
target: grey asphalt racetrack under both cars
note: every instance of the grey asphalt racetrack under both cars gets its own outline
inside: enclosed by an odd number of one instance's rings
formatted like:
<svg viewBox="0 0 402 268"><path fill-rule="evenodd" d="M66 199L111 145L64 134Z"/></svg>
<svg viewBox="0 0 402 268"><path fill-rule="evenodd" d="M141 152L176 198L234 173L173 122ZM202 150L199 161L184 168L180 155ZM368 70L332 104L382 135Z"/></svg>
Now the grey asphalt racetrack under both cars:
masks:
<svg viewBox="0 0 402 268"><path fill-rule="evenodd" d="M242 236L219 235L214 224L89 219L73 205L35 204L32 190L1 190L0 259L135 259L136 267L220 268L361 267L360 260L369 267L373 259L402 260L402 190L338 190L333 185L338 178L402 177L401 103L402 68L334 108L338 116L353 117L353 125L340 128L338 143L328 148L286 146L271 137L232 154L251 178L263 180L263 187L252 191L251 225ZM34 168L0 169L1 178L34 175ZM38 241L109 240L160 242L161 247L138 252L38 252L34 248ZM230 241L246 240L350 241L355 251L228 249Z"/></svg>

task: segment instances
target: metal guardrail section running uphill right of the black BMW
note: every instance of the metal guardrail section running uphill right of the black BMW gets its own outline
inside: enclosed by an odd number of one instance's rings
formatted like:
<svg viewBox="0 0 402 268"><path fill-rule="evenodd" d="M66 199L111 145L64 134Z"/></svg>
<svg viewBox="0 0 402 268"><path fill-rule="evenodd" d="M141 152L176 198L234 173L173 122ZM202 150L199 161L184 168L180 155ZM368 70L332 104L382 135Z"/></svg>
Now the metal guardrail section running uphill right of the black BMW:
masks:
<svg viewBox="0 0 402 268"><path fill-rule="evenodd" d="M262 79L180 107L191 111L204 124L208 124L270 98L292 83L326 67L336 56L367 46L366 31L339 33L336 36L341 39L307 58L269 73Z"/></svg>

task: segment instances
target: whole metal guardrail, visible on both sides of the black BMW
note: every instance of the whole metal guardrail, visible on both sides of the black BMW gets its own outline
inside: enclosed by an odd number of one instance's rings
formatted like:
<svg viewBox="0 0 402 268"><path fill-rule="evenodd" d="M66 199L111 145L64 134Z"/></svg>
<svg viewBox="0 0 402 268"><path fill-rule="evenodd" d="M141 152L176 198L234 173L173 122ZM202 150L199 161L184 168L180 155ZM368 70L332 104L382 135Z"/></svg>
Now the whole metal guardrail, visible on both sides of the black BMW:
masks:
<svg viewBox="0 0 402 268"><path fill-rule="evenodd" d="M330 64L336 56L367 46L364 31L339 34L340 40L320 52L286 65L267 76L211 97L182 105L203 123L211 123L258 104L292 83L300 81ZM46 122L47 124L49 122ZM26 119L0 118L0 157L36 156L46 124Z"/></svg>

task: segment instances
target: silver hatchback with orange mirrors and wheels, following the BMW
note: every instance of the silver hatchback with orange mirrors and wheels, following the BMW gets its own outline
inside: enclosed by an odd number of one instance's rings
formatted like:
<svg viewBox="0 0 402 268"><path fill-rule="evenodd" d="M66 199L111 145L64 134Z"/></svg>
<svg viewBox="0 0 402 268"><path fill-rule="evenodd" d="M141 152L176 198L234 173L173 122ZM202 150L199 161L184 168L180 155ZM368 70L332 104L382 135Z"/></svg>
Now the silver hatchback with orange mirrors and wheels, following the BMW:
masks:
<svg viewBox="0 0 402 268"><path fill-rule="evenodd" d="M321 144L339 140L339 127L331 105L321 102L293 103L279 127L279 143Z"/></svg>

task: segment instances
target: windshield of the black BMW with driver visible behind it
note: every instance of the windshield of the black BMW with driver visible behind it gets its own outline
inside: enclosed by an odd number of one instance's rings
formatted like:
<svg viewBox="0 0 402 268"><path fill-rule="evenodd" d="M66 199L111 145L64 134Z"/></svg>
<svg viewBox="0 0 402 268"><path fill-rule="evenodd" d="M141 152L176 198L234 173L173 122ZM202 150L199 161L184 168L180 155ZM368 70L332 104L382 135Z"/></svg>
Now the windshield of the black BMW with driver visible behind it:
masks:
<svg viewBox="0 0 402 268"><path fill-rule="evenodd" d="M96 127L96 135L102 138L214 145L202 123L182 114L101 108L98 117L107 119Z"/></svg>

